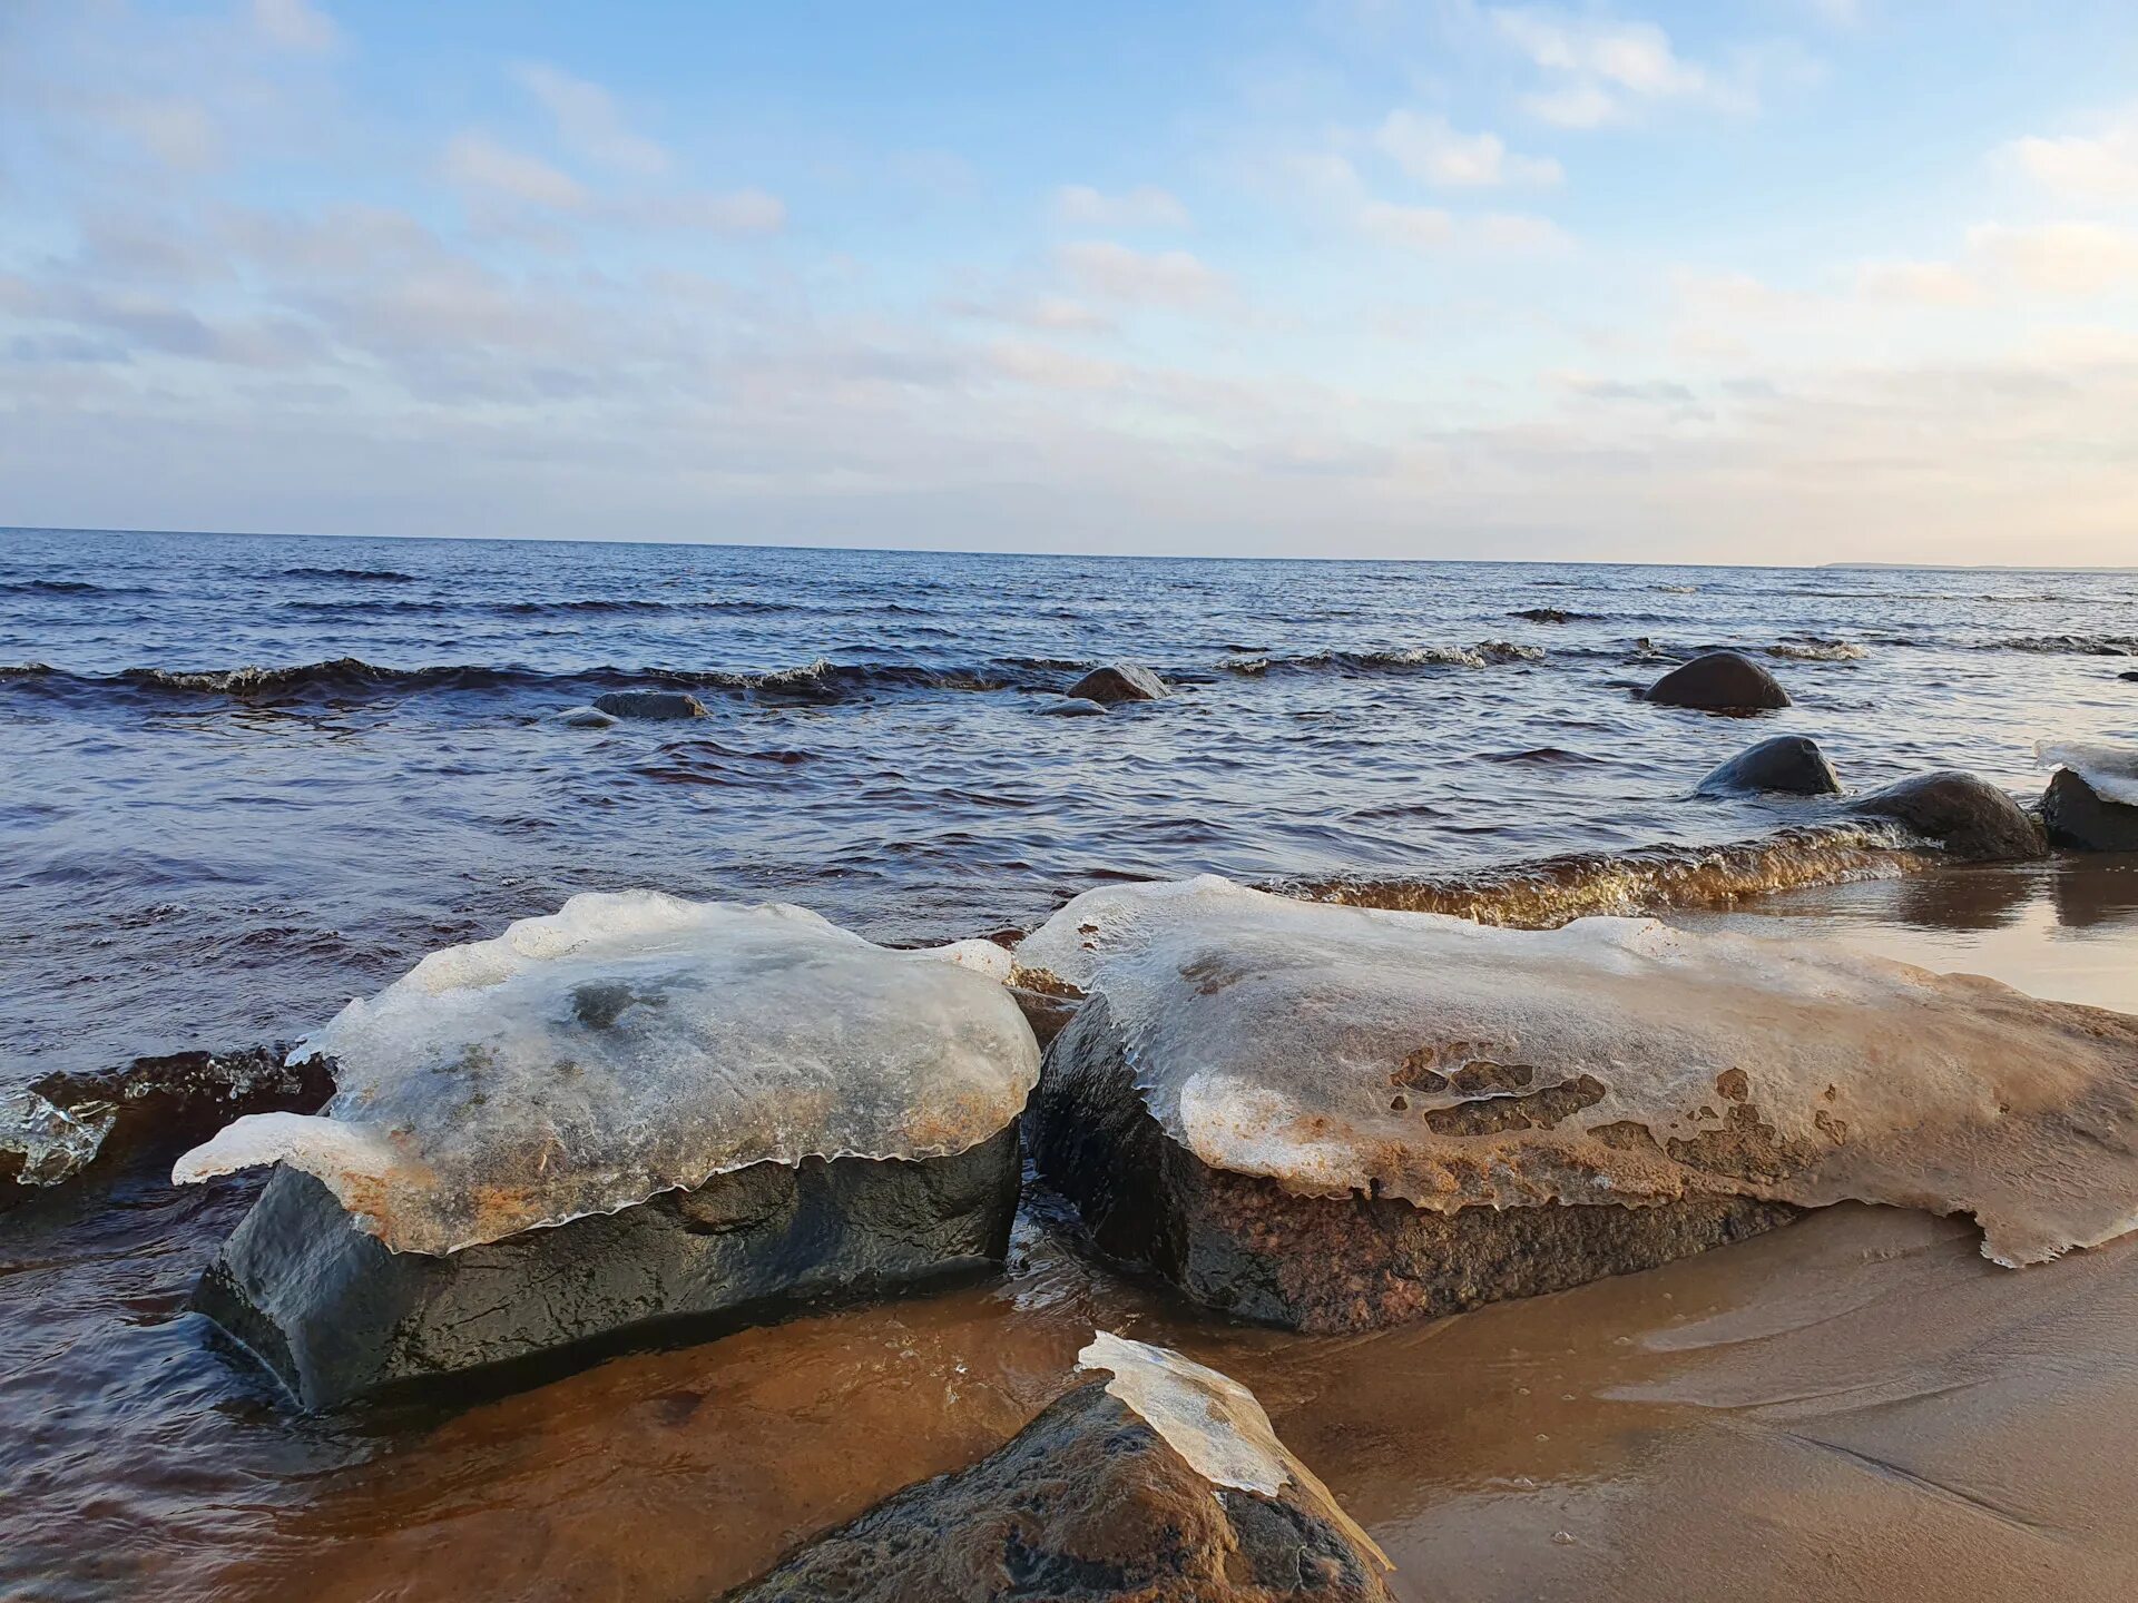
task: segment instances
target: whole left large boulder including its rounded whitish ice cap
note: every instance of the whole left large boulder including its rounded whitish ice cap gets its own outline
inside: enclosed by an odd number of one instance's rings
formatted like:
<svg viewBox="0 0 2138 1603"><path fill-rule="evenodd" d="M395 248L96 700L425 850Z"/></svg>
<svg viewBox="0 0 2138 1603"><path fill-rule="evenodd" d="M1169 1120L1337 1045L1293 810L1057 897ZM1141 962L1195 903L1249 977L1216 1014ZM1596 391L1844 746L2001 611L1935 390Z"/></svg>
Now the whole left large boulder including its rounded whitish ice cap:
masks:
<svg viewBox="0 0 2138 1603"><path fill-rule="evenodd" d="M201 1308L331 1406L998 1259L1039 1067L1007 970L652 891L432 953L297 1047L325 1116L180 1158L286 1167Z"/></svg>

